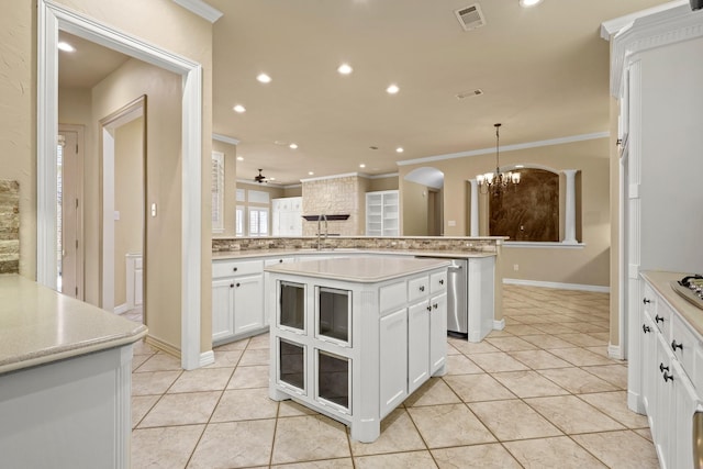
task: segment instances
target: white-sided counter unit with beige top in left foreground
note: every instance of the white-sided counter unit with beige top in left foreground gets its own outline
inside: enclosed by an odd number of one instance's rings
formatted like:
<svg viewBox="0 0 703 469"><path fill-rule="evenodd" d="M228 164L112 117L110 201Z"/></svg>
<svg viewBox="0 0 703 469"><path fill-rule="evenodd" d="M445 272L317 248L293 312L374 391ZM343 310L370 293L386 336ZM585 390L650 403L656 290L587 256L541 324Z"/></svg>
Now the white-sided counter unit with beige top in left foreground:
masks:
<svg viewBox="0 0 703 469"><path fill-rule="evenodd" d="M132 346L146 332L1 275L1 466L129 467Z"/></svg>

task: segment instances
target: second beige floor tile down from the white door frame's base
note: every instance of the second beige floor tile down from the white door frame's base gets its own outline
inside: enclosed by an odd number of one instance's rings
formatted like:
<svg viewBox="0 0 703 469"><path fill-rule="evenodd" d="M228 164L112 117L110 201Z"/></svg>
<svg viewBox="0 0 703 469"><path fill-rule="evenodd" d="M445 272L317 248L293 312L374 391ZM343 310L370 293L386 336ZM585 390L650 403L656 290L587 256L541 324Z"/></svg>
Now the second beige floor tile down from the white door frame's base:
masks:
<svg viewBox="0 0 703 469"><path fill-rule="evenodd" d="M208 423L220 394L220 391L165 394L137 427Z"/></svg>

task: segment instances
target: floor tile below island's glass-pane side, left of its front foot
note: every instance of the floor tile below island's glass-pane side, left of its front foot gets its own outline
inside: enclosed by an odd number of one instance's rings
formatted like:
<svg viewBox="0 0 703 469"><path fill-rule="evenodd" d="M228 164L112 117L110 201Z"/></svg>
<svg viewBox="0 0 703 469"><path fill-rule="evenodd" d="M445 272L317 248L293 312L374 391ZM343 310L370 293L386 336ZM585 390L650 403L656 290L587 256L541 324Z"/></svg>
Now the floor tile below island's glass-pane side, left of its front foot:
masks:
<svg viewBox="0 0 703 469"><path fill-rule="evenodd" d="M272 464L350 457L346 427L322 415L279 418Z"/></svg>

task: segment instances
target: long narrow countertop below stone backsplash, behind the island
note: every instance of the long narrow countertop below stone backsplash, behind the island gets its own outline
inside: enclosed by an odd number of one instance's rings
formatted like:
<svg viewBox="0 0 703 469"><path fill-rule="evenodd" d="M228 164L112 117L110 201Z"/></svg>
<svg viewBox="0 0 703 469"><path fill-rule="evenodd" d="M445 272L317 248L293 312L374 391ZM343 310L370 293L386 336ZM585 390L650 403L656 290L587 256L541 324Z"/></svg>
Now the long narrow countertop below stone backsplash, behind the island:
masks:
<svg viewBox="0 0 703 469"><path fill-rule="evenodd" d="M447 259L469 259L475 257L495 257L495 253L470 253L466 250L426 250L426 249L373 249L373 248L346 248L336 249L252 249L252 250L228 250L224 253L212 253L212 260L248 259L254 257L275 256L297 256L301 254L310 255L344 255L350 254L389 254L404 255L412 257L442 257Z"/></svg>

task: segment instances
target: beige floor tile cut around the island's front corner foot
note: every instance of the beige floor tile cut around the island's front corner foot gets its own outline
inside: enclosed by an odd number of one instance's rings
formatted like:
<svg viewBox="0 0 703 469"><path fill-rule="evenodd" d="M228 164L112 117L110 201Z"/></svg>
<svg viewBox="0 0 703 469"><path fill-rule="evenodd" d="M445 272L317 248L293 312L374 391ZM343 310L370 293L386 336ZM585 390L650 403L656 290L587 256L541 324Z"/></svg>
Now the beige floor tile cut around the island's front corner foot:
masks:
<svg viewBox="0 0 703 469"><path fill-rule="evenodd" d="M348 432L348 429L347 429ZM373 443L359 443L349 437L353 456L426 449L417 428L405 409L395 409L381 421L381 435Z"/></svg>

